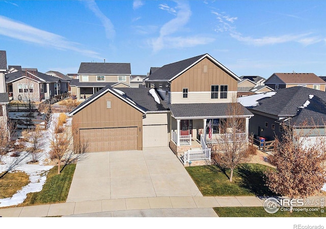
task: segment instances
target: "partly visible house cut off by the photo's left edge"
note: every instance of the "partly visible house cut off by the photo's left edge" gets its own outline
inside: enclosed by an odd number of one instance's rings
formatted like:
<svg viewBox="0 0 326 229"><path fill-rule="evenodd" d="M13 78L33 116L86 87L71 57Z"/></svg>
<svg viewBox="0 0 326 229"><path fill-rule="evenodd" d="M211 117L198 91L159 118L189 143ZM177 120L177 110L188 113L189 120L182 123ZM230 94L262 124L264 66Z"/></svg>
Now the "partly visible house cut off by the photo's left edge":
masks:
<svg viewBox="0 0 326 229"><path fill-rule="evenodd" d="M7 129L9 96L6 92L7 53L0 50L0 129Z"/></svg>

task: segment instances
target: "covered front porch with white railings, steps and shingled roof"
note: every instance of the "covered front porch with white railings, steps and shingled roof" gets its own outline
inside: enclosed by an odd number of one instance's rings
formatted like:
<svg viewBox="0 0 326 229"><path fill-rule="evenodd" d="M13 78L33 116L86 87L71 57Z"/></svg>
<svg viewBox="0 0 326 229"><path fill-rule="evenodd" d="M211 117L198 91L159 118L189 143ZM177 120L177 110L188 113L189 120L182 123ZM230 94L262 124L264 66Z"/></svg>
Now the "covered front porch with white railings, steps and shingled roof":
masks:
<svg viewBox="0 0 326 229"><path fill-rule="evenodd" d="M233 116L228 116L228 104L170 104L170 148L183 163L210 160L208 145L229 142L248 142L249 119L245 109L236 117L240 127L228 128ZM190 109L189 109L190 108ZM195 114L202 113L202 116ZM194 145L196 144L196 145Z"/></svg>

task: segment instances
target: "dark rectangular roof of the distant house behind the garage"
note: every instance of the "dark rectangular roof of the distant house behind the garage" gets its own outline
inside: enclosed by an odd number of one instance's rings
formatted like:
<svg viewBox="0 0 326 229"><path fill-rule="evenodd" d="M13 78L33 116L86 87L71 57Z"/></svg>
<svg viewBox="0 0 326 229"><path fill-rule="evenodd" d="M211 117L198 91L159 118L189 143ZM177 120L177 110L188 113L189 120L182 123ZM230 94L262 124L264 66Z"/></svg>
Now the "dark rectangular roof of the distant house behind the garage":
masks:
<svg viewBox="0 0 326 229"><path fill-rule="evenodd" d="M81 63L78 74L131 74L130 63Z"/></svg>

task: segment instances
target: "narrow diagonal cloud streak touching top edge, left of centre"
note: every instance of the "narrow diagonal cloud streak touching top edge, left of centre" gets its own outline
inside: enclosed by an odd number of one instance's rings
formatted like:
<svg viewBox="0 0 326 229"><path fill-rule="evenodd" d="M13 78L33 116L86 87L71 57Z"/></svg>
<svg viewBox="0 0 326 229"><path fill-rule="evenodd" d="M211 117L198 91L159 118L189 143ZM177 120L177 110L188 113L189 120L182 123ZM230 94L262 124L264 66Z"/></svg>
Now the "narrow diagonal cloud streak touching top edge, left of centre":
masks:
<svg viewBox="0 0 326 229"><path fill-rule="evenodd" d="M116 31L114 29L114 25L112 24L111 20L108 19L102 11L98 8L97 4L94 0L86 0L82 1L88 9L90 9L95 16L101 21L102 25L105 28L105 35L108 39L113 39L116 35Z"/></svg>

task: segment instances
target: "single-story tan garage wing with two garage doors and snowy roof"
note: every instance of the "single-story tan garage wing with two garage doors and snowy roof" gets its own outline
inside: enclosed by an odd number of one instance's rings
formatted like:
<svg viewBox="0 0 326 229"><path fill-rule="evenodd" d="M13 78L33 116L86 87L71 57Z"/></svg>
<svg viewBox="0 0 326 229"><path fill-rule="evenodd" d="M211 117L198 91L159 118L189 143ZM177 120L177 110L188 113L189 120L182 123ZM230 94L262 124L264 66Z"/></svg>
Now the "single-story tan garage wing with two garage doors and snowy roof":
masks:
<svg viewBox="0 0 326 229"><path fill-rule="evenodd" d="M74 140L87 143L88 152L102 152L168 146L168 112L154 89L106 85L69 116Z"/></svg>

